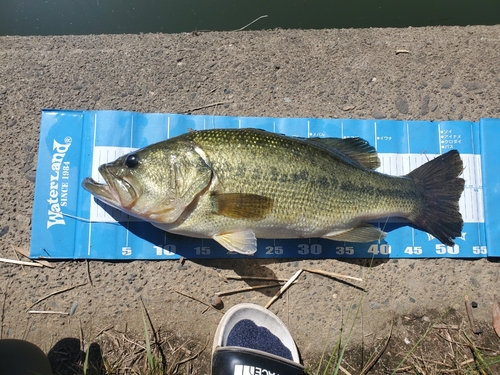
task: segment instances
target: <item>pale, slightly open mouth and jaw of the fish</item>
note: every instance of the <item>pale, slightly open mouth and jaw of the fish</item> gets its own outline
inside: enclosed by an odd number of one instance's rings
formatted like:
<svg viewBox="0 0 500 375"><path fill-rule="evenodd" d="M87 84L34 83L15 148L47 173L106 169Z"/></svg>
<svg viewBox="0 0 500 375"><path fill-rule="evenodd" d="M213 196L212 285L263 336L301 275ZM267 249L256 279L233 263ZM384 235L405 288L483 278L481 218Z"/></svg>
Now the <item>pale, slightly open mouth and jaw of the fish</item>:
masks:
<svg viewBox="0 0 500 375"><path fill-rule="evenodd" d="M123 177L113 173L106 165L99 167L99 173L105 183L87 177L82 181L82 187L96 198L116 208L130 208L138 198L133 185Z"/></svg>

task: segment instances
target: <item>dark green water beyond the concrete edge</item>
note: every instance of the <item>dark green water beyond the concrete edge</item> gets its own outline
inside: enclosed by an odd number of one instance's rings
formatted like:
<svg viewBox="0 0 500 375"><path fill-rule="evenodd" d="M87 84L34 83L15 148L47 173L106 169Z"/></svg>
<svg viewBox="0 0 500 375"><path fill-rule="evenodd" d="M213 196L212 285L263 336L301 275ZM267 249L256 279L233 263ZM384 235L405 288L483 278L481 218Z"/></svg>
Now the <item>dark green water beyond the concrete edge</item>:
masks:
<svg viewBox="0 0 500 375"><path fill-rule="evenodd" d="M0 0L0 35L500 23L498 0Z"/></svg>

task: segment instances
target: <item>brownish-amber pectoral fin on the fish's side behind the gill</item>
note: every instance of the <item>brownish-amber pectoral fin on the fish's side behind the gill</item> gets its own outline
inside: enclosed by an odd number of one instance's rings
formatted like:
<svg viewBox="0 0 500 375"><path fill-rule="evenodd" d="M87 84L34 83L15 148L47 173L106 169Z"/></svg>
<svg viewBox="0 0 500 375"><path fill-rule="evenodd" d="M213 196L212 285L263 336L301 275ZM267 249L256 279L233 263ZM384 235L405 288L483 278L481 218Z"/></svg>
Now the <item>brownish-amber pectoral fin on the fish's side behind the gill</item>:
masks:
<svg viewBox="0 0 500 375"><path fill-rule="evenodd" d="M211 199L216 214L232 219L264 219L273 207L271 198L257 194L214 193Z"/></svg>

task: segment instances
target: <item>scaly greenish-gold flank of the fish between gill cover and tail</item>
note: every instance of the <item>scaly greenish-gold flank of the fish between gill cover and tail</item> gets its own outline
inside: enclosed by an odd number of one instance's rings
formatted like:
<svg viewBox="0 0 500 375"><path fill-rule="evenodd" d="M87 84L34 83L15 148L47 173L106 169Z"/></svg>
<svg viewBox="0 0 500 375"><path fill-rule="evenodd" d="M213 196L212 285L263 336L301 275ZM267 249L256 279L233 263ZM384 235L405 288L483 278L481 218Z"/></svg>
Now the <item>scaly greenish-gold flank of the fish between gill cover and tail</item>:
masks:
<svg viewBox="0 0 500 375"><path fill-rule="evenodd" d="M223 136L217 137L217 134ZM249 141L242 143L247 134L250 135ZM320 236L328 233L330 228L349 225L353 220L359 219L360 215L384 215L395 209L396 212L409 212L414 205L413 202L401 201L394 195L389 198L380 194L360 194L367 186L375 189L382 184L387 187L393 187L396 183L410 185L407 181L356 168L335 155L300 140L284 139L267 132L256 133L254 130L193 132L187 137L203 149L210 162L213 161L211 167L219 181L215 191L221 194L260 194L273 199L272 211L259 223L254 223L257 227L267 229L270 223L275 227L280 224L296 228L299 233L294 236L305 236L306 233ZM252 156L250 160L248 155ZM240 165L246 166L246 173L235 179L232 171L237 170ZM258 165L257 170L254 165ZM306 174L308 178L294 181L291 177L294 174ZM337 183L317 183L319 178L331 181L329 176L333 176ZM348 184L349 189L343 184ZM400 186L400 189L410 187ZM196 212L198 213L201 212ZM207 209L203 216L193 215L192 220L187 220L179 229L202 225L209 218L214 228L232 228L245 221L241 219L241 222L231 223L224 216ZM285 237L289 235L284 234ZM283 235L276 231L270 237L282 238Z"/></svg>

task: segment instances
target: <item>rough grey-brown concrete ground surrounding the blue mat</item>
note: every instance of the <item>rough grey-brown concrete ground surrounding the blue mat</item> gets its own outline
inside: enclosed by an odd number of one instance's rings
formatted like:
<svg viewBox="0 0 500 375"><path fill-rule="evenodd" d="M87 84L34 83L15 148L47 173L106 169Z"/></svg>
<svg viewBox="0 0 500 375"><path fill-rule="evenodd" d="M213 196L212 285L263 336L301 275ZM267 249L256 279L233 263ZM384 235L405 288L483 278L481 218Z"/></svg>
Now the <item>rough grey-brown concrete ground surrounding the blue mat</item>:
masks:
<svg viewBox="0 0 500 375"><path fill-rule="evenodd" d="M500 116L499 62L500 26L0 37L0 257L16 259L15 247L29 248L42 108L477 121ZM216 102L226 103L193 110ZM263 283L224 277L287 279L306 267L365 280L354 287L304 273L272 305L309 368L341 332L345 342L355 313L343 364L353 374L383 346L391 321L389 347L376 367L380 372L394 368L432 323L450 324L445 331L451 334L433 329L417 348L429 361L444 362L449 354L438 353L453 354L452 342L462 333L500 351L491 325L493 294L500 290L495 260L69 261L53 266L0 264L0 335L36 343L50 352L60 373L75 373L81 348L89 346L97 363L102 355L116 372L133 371L144 354L139 346L144 303L168 362L184 359L183 373L207 374L222 313L240 302L265 305L276 292L233 294L223 297L222 310L207 309L204 303L216 292ZM77 287L38 302L72 286ZM477 303L472 312L481 334L472 333L466 295ZM470 351L462 361L468 358Z"/></svg>

